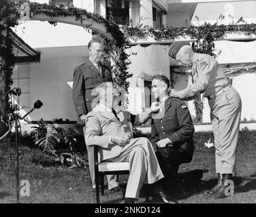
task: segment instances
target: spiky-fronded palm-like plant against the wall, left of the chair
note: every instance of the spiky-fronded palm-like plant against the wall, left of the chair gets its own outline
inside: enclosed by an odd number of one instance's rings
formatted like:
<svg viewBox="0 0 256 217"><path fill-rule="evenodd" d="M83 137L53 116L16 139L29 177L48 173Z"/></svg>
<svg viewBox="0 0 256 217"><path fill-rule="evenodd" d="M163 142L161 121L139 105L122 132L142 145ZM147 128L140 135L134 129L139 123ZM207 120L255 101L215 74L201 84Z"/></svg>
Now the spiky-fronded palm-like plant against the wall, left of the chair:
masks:
<svg viewBox="0 0 256 217"><path fill-rule="evenodd" d="M37 124L39 126L32 127L35 130L30 133L33 144L39 146L47 154L54 154L55 146L60 141L57 132L48 127L43 121L39 121Z"/></svg>

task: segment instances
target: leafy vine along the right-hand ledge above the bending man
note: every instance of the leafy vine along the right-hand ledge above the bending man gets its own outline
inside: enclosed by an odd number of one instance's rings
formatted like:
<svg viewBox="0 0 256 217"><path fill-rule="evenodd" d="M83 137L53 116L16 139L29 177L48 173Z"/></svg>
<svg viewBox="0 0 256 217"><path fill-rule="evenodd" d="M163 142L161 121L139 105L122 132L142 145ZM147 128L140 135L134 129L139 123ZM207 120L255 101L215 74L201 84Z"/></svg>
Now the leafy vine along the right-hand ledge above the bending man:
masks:
<svg viewBox="0 0 256 217"><path fill-rule="evenodd" d="M221 17L224 19L224 17ZM198 19L197 19L198 20ZM227 32L243 32L249 36L256 33L256 24L246 24L241 17L237 22L232 22L229 25L219 24L218 22L210 24L205 22L199 26L190 27L168 27L163 26L160 29L148 28L141 24L138 26L131 26L125 28L125 36L133 40L146 39L147 37L153 37L156 41L174 40L177 37L189 36L193 39L192 47L194 52L201 54L209 54L210 56L217 57L221 51L215 54L214 41L217 41L225 35ZM177 77L172 77L172 81L176 81ZM195 121L202 122L204 102L202 97L199 96L193 100L195 105Z"/></svg>

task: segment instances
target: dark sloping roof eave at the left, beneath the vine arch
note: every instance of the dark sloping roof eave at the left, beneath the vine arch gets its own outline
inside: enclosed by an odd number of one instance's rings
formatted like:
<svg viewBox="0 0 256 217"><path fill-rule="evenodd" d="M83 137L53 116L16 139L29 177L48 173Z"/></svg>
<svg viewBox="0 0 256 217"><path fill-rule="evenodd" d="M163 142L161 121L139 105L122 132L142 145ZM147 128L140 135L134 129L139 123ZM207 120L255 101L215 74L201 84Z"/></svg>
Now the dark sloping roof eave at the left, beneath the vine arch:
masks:
<svg viewBox="0 0 256 217"><path fill-rule="evenodd" d="M25 41L20 39L16 33L10 29L10 35L14 41L14 62L15 64L29 64L40 62L40 52L33 50Z"/></svg>

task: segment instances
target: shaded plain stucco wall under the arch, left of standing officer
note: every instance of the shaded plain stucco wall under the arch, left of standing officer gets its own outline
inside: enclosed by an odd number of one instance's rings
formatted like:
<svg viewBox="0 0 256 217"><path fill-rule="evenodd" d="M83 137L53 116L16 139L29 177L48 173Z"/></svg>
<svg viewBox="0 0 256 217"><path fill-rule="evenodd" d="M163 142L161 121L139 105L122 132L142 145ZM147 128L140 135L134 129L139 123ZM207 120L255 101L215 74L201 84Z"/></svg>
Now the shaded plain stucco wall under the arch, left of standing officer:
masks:
<svg viewBox="0 0 256 217"><path fill-rule="evenodd" d="M54 118L63 118L76 121L72 89L67 82L73 81L74 68L89 56L87 47L48 47L38 50L42 52L40 63L28 67L30 108L37 99L44 105L31 113L31 119L37 121L43 118L51 121Z"/></svg>

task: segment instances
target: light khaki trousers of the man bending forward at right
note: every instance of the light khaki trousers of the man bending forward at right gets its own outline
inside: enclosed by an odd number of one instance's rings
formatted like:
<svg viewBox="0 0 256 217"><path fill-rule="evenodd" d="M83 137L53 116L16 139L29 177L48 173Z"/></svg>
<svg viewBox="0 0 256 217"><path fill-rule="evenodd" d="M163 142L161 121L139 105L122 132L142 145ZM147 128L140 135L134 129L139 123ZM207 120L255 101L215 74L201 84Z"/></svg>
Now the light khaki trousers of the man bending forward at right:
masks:
<svg viewBox="0 0 256 217"><path fill-rule="evenodd" d="M216 172L232 174L236 167L236 147L242 102L234 87L209 100L214 134Z"/></svg>

